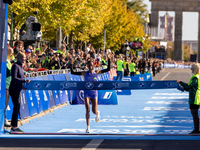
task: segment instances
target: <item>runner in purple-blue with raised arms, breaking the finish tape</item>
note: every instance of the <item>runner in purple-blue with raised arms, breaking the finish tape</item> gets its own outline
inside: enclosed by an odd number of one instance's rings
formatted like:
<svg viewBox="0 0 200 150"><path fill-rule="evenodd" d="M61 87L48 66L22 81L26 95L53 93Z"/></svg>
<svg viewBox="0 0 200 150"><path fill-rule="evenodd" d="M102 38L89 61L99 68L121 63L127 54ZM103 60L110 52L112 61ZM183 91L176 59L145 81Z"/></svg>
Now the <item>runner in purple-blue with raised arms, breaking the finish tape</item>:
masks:
<svg viewBox="0 0 200 150"><path fill-rule="evenodd" d="M73 61L70 67L71 74L74 75L83 75L85 77L85 81L97 81L97 77L99 74L105 73L110 71L110 58L108 58L108 66L107 69L104 70L94 70L94 62L88 61L87 62L88 71L82 72L74 72L73 71ZM84 102L86 108L86 123L87 129L86 133L90 133L90 102L92 104L92 112L96 114L95 121L98 122L100 120L100 111L97 110L97 90L84 90Z"/></svg>

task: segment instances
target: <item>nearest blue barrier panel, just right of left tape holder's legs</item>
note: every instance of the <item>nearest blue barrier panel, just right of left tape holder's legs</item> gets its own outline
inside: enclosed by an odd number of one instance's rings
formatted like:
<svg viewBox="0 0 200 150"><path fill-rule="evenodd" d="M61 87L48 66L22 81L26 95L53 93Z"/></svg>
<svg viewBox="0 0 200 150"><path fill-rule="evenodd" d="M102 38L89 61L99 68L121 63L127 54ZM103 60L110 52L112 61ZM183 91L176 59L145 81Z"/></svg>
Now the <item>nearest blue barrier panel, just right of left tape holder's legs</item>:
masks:
<svg viewBox="0 0 200 150"><path fill-rule="evenodd" d="M21 91L20 118L29 117L29 109L24 90Z"/></svg>

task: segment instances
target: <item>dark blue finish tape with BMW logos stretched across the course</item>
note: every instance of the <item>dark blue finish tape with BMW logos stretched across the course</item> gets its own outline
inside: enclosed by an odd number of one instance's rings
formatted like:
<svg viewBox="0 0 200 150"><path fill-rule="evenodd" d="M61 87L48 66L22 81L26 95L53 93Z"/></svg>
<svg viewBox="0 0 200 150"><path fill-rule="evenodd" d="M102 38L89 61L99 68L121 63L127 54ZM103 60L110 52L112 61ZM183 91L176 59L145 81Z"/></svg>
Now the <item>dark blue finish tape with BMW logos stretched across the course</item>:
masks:
<svg viewBox="0 0 200 150"><path fill-rule="evenodd" d="M178 88L175 80L169 81L31 81L27 90L128 90Z"/></svg>

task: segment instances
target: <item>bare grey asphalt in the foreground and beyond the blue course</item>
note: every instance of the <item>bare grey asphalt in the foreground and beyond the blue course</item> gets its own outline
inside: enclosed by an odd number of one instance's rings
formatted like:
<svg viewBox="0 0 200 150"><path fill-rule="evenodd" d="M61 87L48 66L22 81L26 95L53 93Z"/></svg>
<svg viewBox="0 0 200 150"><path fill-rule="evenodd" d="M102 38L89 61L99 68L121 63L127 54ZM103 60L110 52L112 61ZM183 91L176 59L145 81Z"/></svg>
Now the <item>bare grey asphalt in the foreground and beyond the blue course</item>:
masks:
<svg viewBox="0 0 200 150"><path fill-rule="evenodd" d="M189 69L164 68L153 80L181 80L189 82ZM189 136L192 138L192 136ZM0 150L191 150L200 149L199 140L134 140L108 139L29 139L0 137Z"/></svg>

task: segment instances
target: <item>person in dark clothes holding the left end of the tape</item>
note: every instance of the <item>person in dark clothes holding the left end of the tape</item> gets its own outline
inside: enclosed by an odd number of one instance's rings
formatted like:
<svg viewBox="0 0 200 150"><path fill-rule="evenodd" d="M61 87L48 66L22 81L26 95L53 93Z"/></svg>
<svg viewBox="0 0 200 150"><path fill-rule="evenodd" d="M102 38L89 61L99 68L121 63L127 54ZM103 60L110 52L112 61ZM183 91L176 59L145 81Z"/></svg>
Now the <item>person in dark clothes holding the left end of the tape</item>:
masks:
<svg viewBox="0 0 200 150"><path fill-rule="evenodd" d="M11 133L23 132L21 129L17 128L17 126L18 126L18 115L19 115L20 103L21 103L20 92L23 89L23 84L30 82L30 80L24 79L22 64L25 62L25 60L26 60L25 54L22 52L19 52L17 54L17 62L12 66L12 69L11 69L12 80L9 87L9 93L14 105L12 119L11 119L11 126L12 126Z"/></svg>

